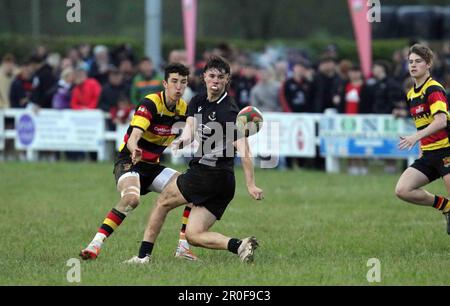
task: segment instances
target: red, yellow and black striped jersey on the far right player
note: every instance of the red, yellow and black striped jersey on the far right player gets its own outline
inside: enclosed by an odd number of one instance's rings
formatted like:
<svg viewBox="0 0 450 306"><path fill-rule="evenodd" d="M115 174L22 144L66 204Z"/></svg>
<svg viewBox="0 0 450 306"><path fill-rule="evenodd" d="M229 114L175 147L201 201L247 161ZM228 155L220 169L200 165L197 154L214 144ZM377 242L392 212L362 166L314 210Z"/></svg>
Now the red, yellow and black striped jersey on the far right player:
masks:
<svg viewBox="0 0 450 306"><path fill-rule="evenodd" d="M450 147L448 139L450 115L444 87L429 77L419 88L411 88L407 97L410 113L418 130L430 125L435 114L447 115L447 128L422 138L421 149L433 151Z"/></svg>

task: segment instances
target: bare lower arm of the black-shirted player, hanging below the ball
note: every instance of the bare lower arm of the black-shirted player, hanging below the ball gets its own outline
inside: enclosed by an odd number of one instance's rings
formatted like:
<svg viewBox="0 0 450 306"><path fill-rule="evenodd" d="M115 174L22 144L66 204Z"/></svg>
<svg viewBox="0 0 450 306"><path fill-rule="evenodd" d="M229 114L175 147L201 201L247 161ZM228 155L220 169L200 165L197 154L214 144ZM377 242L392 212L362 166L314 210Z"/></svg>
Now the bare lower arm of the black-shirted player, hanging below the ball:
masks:
<svg viewBox="0 0 450 306"><path fill-rule="evenodd" d="M255 172L253 168L252 153L247 138L243 137L234 142L239 155L241 156L242 168L244 169L245 182L247 183L248 193L255 200L264 199L263 190L255 184Z"/></svg>

